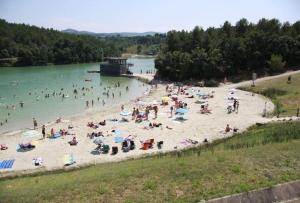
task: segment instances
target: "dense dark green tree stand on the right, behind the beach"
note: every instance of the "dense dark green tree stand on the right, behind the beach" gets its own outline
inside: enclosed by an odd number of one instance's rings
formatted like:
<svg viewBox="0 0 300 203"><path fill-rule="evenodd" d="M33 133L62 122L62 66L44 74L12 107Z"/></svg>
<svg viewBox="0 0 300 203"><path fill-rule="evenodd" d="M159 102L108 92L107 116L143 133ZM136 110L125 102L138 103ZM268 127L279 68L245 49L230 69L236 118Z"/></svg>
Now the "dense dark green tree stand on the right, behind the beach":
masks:
<svg viewBox="0 0 300 203"><path fill-rule="evenodd" d="M170 31L155 60L158 75L170 80L238 79L274 74L300 65L300 21L246 19L235 25L191 32Z"/></svg>

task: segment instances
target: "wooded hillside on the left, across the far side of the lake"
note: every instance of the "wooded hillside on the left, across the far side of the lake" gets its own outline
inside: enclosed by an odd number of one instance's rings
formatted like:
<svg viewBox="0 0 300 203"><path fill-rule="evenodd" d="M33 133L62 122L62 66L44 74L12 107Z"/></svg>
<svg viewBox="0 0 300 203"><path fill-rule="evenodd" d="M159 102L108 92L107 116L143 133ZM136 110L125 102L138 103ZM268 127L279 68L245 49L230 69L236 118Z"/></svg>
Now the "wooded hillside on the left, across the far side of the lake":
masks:
<svg viewBox="0 0 300 203"><path fill-rule="evenodd" d="M101 61L120 56L130 46L161 44L165 35L95 37L62 33L53 29L8 23L0 19L0 65L31 66ZM149 51L156 54L157 49Z"/></svg>

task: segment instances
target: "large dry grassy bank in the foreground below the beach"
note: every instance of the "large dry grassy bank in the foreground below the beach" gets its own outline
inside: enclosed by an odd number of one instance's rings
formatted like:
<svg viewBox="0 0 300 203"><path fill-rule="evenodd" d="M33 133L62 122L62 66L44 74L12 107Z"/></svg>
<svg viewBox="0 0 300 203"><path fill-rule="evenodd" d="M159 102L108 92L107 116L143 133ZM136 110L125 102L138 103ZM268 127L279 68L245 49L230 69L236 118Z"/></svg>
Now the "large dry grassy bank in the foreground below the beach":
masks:
<svg viewBox="0 0 300 203"><path fill-rule="evenodd" d="M299 179L299 168L300 122L266 124L180 153L2 179L0 199L198 202Z"/></svg>

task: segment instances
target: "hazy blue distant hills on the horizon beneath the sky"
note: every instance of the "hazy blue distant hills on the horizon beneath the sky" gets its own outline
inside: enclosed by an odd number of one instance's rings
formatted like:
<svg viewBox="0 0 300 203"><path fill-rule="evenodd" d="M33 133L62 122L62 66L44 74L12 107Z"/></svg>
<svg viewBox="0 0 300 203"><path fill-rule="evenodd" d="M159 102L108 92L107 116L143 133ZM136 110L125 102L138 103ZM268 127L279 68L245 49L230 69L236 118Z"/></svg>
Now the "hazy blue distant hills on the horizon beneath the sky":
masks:
<svg viewBox="0 0 300 203"><path fill-rule="evenodd" d="M96 32L89 32L89 31L78 31L75 29L66 29L62 30L61 32L76 34L76 35L90 35L96 37L113 37L113 36L120 36L120 37L137 37L137 36L154 36L158 32L112 32L112 33L96 33ZM160 33L158 33L160 34Z"/></svg>

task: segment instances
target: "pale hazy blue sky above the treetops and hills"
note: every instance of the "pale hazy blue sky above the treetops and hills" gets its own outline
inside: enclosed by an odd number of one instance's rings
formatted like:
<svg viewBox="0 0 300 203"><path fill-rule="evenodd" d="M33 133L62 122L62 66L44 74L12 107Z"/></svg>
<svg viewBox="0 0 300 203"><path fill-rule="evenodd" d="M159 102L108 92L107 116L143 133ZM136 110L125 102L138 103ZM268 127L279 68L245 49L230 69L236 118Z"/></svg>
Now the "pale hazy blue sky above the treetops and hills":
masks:
<svg viewBox="0 0 300 203"><path fill-rule="evenodd" d="M0 18L58 30L166 32L240 18L300 20L300 0L0 0Z"/></svg>

